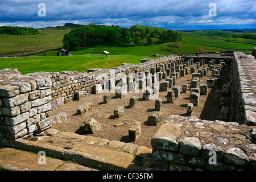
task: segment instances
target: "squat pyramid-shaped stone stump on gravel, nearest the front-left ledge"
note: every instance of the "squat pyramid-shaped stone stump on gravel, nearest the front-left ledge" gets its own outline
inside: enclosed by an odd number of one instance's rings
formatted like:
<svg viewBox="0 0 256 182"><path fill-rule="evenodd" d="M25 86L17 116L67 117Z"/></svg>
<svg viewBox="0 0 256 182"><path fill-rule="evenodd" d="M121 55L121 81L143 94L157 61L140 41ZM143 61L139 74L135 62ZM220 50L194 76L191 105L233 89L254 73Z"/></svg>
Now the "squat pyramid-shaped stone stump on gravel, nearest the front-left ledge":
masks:
<svg viewBox="0 0 256 182"><path fill-rule="evenodd" d="M93 118L88 118L79 127L80 131L85 131L85 133L95 134L98 130L101 129L101 123L97 122Z"/></svg>

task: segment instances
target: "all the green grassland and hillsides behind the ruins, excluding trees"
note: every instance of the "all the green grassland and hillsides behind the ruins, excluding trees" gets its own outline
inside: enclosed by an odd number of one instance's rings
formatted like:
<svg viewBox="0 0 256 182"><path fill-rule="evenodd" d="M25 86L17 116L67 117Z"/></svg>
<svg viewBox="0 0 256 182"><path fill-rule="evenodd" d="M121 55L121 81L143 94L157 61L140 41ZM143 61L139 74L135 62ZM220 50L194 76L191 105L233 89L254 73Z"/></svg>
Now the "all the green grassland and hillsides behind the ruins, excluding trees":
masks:
<svg viewBox="0 0 256 182"><path fill-rule="evenodd" d="M139 26L150 31L167 31L164 28ZM17 36L0 34L0 56L19 56L38 53L49 49L63 47L63 36L70 28L47 27L39 29L39 35ZM149 58L154 54L169 55L175 53L195 52L219 52L220 50L234 49L235 51L251 52L256 47L256 40L233 38L238 32L232 31L191 31L180 32L182 42L168 42L163 44L151 44L150 46L111 47L96 46L81 48L79 51L71 51L73 56L56 56L56 50L38 53L39 57L11 57L0 59L0 69L18 68L22 74L32 72L61 72L79 71L86 72L89 68L113 68L122 63L140 63L143 58ZM253 33L253 32L251 32ZM255 33L255 32L254 32ZM103 51L110 54L105 58ZM97 55L100 54L100 55ZM150 57L152 59L152 57Z"/></svg>

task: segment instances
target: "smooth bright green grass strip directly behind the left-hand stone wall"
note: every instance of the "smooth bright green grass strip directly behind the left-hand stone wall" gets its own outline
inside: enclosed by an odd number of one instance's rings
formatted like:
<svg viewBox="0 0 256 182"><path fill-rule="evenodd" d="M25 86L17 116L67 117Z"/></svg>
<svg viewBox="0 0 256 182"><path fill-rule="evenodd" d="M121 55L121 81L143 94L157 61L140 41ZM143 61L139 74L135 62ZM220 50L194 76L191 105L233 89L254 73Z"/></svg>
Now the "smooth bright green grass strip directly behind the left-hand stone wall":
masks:
<svg viewBox="0 0 256 182"><path fill-rule="evenodd" d="M78 55L78 56L47 56L47 57L10 57L0 59L0 70L15 69L23 75L34 72L87 72L90 68L113 68L122 63L141 63L141 59L154 57L133 55ZM156 59L156 57L155 57Z"/></svg>

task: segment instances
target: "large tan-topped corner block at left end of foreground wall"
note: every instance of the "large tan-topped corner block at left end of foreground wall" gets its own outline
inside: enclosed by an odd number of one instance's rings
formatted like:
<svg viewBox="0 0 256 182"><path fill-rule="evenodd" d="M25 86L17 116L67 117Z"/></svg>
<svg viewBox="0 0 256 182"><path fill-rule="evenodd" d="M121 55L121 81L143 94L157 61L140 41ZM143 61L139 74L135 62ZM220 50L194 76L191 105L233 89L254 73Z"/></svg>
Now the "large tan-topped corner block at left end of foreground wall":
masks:
<svg viewBox="0 0 256 182"><path fill-rule="evenodd" d="M151 145L156 150L177 151L179 148L177 137L180 135L181 125L164 123L151 139Z"/></svg>

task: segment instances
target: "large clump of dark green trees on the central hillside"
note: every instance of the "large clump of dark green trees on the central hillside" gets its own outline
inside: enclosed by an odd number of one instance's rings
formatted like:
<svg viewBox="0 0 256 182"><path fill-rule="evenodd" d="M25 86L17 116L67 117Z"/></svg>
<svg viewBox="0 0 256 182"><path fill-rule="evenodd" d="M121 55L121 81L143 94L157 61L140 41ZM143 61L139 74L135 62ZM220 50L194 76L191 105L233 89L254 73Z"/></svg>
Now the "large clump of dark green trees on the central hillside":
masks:
<svg viewBox="0 0 256 182"><path fill-rule="evenodd" d="M90 24L90 26L73 28L71 32L64 35L63 43L66 49L77 51L80 47L97 45L139 46L180 40L181 34L172 30L150 32L148 28L144 30L137 26L121 28Z"/></svg>

